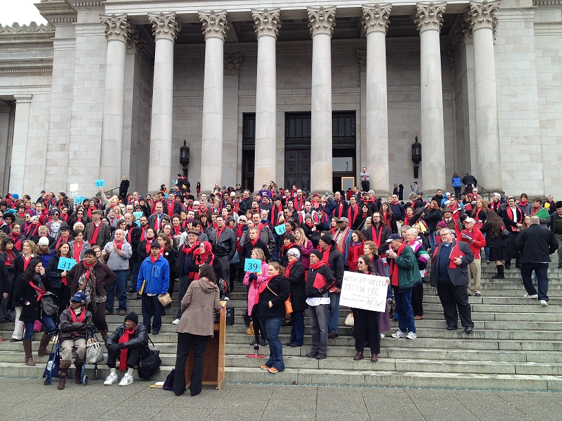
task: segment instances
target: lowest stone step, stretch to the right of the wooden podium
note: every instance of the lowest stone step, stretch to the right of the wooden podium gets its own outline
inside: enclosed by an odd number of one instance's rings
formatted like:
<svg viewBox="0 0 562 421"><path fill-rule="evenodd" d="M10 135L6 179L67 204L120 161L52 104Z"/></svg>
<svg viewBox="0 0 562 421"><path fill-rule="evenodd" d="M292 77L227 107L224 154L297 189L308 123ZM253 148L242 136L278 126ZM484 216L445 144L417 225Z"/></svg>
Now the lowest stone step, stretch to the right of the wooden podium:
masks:
<svg viewBox="0 0 562 421"><path fill-rule="evenodd" d="M378 364L378 363L373 363ZM292 369L270 374L252 367L227 367L229 382L280 385L354 385L366 387L447 387L461 389L550 390L562 389L559 376L523 374L464 374L417 371L349 371L339 369Z"/></svg>

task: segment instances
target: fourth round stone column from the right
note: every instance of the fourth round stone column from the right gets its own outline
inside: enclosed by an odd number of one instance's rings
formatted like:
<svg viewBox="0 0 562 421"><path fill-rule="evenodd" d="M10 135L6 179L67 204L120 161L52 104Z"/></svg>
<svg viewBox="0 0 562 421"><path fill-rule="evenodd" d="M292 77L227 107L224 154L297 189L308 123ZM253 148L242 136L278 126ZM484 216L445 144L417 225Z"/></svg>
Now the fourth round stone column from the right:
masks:
<svg viewBox="0 0 562 421"><path fill-rule="evenodd" d="M312 36L311 191L332 187L332 57L335 7L308 8Z"/></svg>

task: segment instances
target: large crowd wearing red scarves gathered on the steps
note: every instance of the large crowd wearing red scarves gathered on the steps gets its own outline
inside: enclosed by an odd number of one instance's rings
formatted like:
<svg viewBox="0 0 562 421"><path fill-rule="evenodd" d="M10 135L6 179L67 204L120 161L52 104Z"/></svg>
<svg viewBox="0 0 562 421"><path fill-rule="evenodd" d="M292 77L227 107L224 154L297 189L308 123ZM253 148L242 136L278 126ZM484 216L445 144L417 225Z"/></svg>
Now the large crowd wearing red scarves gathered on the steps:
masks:
<svg viewBox="0 0 562 421"><path fill-rule="evenodd" d="M35 201L11 194L0 202L0 318L14 317L12 341L23 341L26 363L33 364L36 321L45 330L39 347L39 355L45 355L58 316L70 308L73 319L85 314L106 341L110 338L107 346L117 359L126 357L118 354L127 342L123 337L158 334L162 316L174 314L181 345L178 368L185 365L190 346L202 364L212 321L206 318L202 325L192 325L194 318L185 314L196 310L190 310L189 303L207 300L207 309L219 310L219 294L227 300L236 289L247 294L244 320L253 328L252 345L269 343L271 355L261 368L277 373L285 368L279 333L287 323L287 301L292 327L284 345L303 345L304 311L309 310L312 347L306 356L326 358L328 339L340 334L346 270L388 281L385 312L353 309L354 359L363 359L368 346L376 362L391 317L399 326L393 338L417 338L415 321L424 316L424 282L437 288L447 329L456 330L460 316L464 331L470 333L474 323L468 296L482 294L484 259L495 263L496 279L505 277L504 269L514 260L521 268L525 296L541 305L548 305L545 262L556 249L562 268L562 202L552 197L545 203L540 197L528 202L525 193L519 201L493 193L487 202L469 174L460 179L455 173L455 192L438 190L431 198L414 182L406 202L399 197L404 194L402 185L389 197L376 197L366 167L361 190L324 194L297 186L279 188L272 181L255 193L240 184L216 184L213 191L202 192L198 184L194 196L182 177L169 191L163 184L154 195L139 195L128 194L128 180L124 181L119 196L108 198L99 188L94 197L77 204L64 192L47 191ZM261 264L245 271L246 259ZM72 268L61 266L67 260L75 262ZM171 309L161 299L175 292L176 283L180 305ZM127 326L138 323L138 316L127 309L127 292L142 303L142 328L136 330ZM55 314L46 314L41 305L48 293L56 297ZM85 299L76 301L80 293ZM83 310L77 313L77 308ZM105 317L114 312L127 321L122 332L110 336ZM65 314L67 322L68 317ZM117 379L115 358L108 360L113 367L106 384ZM64 361L67 369L68 358ZM83 364L83 356L76 364ZM127 358L121 367L128 365ZM132 382L130 374L123 378L124 385ZM196 385L200 373L194 370L194 376ZM182 387L185 390L185 379L177 380L174 391L183 393ZM191 391L198 393L200 386L192 385Z"/></svg>

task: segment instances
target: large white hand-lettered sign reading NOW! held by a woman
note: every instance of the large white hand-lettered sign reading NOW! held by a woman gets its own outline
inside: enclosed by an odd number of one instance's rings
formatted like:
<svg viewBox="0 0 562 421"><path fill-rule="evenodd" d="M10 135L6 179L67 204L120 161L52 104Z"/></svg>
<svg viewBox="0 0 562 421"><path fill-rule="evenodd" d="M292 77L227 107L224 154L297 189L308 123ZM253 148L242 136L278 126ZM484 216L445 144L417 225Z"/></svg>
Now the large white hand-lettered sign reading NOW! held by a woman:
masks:
<svg viewBox="0 0 562 421"><path fill-rule="evenodd" d="M344 272L340 305L384 312L388 291L386 279L364 273Z"/></svg>

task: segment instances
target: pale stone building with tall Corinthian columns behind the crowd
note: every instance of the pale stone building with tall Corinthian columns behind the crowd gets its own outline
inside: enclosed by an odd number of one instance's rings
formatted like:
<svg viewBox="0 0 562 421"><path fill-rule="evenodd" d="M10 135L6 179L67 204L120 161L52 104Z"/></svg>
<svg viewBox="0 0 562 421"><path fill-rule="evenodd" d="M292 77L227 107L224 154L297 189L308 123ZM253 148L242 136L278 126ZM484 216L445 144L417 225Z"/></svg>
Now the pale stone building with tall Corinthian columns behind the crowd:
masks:
<svg viewBox="0 0 562 421"><path fill-rule="evenodd" d="M377 194L414 181L562 198L562 3L41 0L1 22L1 191L90 197L182 171ZM8 25L6 25L8 24Z"/></svg>

